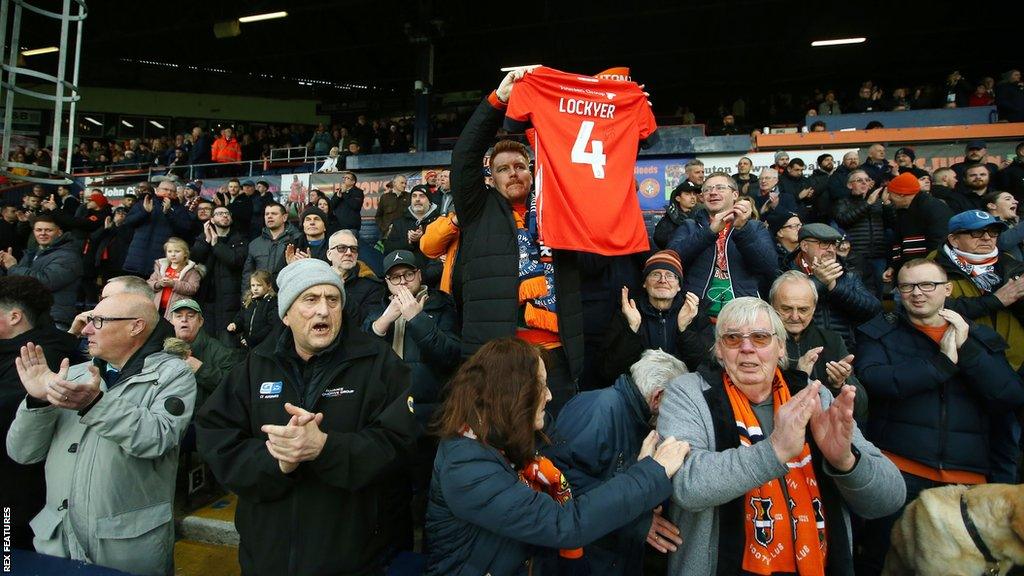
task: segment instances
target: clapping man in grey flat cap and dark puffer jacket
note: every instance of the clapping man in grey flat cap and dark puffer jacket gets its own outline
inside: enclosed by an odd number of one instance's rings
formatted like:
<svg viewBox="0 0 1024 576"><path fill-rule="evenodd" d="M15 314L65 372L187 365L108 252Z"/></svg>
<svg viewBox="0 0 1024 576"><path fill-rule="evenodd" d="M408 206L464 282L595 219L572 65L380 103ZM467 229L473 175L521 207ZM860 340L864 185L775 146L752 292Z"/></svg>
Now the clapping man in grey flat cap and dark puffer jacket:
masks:
<svg viewBox="0 0 1024 576"><path fill-rule="evenodd" d="M854 329L882 312L882 302L856 274L847 274L846 262L836 254L843 242L836 229L815 222L804 224L799 234L798 248L782 268L811 279L818 294L814 323L838 332L853 349Z"/></svg>

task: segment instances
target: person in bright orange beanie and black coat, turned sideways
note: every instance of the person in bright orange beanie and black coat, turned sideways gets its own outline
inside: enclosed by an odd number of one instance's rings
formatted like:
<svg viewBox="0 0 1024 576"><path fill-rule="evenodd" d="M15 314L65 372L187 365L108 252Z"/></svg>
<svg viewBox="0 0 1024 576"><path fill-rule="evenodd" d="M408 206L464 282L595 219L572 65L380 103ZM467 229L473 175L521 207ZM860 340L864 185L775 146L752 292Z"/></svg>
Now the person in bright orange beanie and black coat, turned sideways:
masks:
<svg viewBox="0 0 1024 576"><path fill-rule="evenodd" d="M886 187L883 201L896 209L892 260L882 280L892 282L900 265L922 258L946 240L952 210L928 193L921 194L921 182L912 172L903 172Z"/></svg>

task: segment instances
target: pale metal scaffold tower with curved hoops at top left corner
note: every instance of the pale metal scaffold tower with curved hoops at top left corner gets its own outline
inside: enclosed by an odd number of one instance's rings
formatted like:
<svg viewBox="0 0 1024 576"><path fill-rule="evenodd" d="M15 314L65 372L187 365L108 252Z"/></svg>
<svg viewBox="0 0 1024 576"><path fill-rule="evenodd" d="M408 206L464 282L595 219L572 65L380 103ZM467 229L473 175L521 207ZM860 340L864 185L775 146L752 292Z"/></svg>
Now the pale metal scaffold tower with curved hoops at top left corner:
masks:
<svg viewBox="0 0 1024 576"><path fill-rule="evenodd" d="M72 13L72 4L77 5L77 13ZM11 5L13 5L13 12L10 13L8 23L8 13L10 12ZM18 66L22 15L24 10L29 10L60 25L60 42L58 44L59 52L57 54L57 73L55 76L33 70L28 68L27 65ZM8 48L5 61L0 61L0 95L4 96L3 155L0 156L0 174L38 183L55 184L71 182L71 159L75 151L75 108L81 97L78 93L78 69L82 52L82 26L87 13L85 0L63 0L63 10L61 12L53 12L34 6L25 0L0 0L0 56L3 56L2 49L4 47ZM69 54L68 36L69 29L73 23L76 28L75 51ZM69 59L74 60L70 82L66 80ZM24 58L22 58L22 61L24 61ZM32 87L18 85L19 77L23 79L32 79ZM37 89L38 84L42 84L43 86ZM52 85L52 90L50 92L40 91L45 90L46 85ZM53 147L48 167L7 160L7 155L10 154L11 150L11 121L13 120L15 94L53 102L53 131L51 132ZM69 119L67 140L62 139L63 134L61 134L66 105L68 106ZM65 146L66 141L67 146ZM61 160L65 162L62 168L60 167ZM10 172L13 168L28 169L31 174L13 174Z"/></svg>

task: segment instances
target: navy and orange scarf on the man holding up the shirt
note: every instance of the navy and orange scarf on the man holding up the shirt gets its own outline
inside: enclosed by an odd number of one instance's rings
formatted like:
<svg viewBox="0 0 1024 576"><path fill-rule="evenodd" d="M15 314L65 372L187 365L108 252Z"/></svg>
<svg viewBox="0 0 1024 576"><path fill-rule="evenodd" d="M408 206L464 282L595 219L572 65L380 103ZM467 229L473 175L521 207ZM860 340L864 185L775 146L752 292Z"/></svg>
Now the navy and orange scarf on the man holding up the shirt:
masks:
<svg viewBox="0 0 1024 576"><path fill-rule="evenodd" d="M555 266L551 248L541 244L537 228L537 196L527 204L525 218L514 212L519 247L519 303L525 304L524 321L530 328L558 332L555 298Z"/></svg>

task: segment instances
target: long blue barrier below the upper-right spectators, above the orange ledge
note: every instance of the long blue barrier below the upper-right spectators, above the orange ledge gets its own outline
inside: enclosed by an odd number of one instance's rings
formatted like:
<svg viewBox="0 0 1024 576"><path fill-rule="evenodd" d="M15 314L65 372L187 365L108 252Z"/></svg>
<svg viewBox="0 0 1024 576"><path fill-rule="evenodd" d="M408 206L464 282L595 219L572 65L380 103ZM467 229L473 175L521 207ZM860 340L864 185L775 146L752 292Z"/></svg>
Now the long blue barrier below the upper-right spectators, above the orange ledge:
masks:
<svg viewBox="0 0 1024 576"><path fill-rule="evenodd" d="M828 131L856 128L863 130L868 122L879 121L886 128L925 128L928 126L964 126L992 124L998 120L994 106L971 108L937 108L932 110L906 110L902 112L865 112L863 114L838 114L836 116L808 116L807 126L821 121Z"/></svg>

